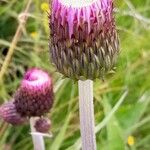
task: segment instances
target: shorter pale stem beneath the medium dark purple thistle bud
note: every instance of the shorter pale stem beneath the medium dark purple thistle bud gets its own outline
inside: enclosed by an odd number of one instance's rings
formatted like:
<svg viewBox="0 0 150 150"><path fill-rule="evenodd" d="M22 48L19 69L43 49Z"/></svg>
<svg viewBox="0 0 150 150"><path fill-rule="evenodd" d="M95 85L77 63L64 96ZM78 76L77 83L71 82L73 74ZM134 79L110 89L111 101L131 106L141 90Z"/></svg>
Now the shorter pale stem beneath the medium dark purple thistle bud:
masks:
<svg viewBox="0 0 150 150"><path fill-rule="evenodd" d="M36 120L37 118L35 117L30 118L31 132L36 132L36 129L34 127ZM32 140L33 140L34 150L45 150L44 139L42 135L32 134Z"/></svg>

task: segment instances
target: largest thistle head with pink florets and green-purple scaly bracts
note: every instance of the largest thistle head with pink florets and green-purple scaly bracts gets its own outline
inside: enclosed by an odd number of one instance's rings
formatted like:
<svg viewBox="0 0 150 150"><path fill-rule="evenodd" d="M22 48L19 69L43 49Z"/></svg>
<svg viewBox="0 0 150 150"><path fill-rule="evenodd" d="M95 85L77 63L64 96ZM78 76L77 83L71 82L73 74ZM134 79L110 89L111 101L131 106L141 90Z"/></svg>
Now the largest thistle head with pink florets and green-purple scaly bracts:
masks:
<svg viewBox="0 0 150 150"><path fill-rule="evenodd" d="M53 0L50 54L57 70L75 79L96 79L111 70L119 52L113 0Z"/></svg>

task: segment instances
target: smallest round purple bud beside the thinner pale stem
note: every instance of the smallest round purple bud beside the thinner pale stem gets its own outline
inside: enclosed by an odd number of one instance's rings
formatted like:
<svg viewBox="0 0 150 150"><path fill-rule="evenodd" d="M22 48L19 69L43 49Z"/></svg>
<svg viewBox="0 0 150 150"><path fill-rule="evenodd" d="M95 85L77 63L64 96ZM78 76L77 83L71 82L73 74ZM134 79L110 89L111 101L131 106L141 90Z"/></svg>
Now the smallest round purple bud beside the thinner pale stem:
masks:
<svg viewBox="0 0 150 150"><path fill-rule="evenodd" d="M34 127L38 132L48 133L51 127L51 121L48 118L39 118Z"/></svg>

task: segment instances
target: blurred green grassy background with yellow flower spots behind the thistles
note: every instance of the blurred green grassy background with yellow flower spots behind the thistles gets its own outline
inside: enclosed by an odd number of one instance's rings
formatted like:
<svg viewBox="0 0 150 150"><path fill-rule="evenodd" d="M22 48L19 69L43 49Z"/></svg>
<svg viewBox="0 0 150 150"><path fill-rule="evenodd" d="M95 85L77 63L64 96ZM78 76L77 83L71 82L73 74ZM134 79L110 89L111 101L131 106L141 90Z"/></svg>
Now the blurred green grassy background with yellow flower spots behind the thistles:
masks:
<svg viewBox="0 0 150 150"><path fill-rule="evenodd" d="M48 1L28 3L0 0L0 68L9 47L17 44L0 84L0 104L12 98L28 68L47 70L53 77L55 102L49 113L53 137L45 138L46 147L78 150L77 83L63 79L49 61ZM115 6L121 53L116 73L94 82L97 149L150 150L150 0L116 0ZM32 150L29 133L29 125L13 127L0 120L0 150Z"/></svg>

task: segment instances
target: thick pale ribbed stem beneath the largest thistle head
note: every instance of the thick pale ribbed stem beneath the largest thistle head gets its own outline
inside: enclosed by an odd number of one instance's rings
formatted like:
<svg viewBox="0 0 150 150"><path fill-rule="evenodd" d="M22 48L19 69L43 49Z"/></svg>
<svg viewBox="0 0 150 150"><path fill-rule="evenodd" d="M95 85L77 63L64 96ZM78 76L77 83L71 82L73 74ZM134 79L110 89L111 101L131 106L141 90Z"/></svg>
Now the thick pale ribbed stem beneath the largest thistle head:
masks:
<svg viewBox="0 0 150 150"><path fill-rule="evenodd" d="M93 81L79 81L79 111L82 150L96 150Z"/></svg>

